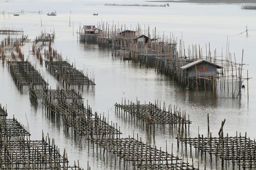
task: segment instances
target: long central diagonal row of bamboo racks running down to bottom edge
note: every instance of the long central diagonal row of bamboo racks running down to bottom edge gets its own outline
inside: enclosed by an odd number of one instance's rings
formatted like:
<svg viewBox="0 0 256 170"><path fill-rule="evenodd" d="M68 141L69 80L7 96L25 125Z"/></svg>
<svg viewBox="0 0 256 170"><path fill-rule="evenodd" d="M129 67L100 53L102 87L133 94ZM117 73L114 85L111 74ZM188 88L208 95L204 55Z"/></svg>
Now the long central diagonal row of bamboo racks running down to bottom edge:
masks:
<svg viewBox="0 0 256 170"><path fill-rule="evenodd" d="M59 93L62 93L60 92L62 90L58 90ZM93 151L96 148L97 154L103 155L107 161L110 159L111 163L118 165L119 158L120 168L121 164L123 164L124 169L132 165L133 169L138 170L155 168L159 170L179 170L181 167L186 170L197 169L193 163L192 165L188 163L188 158L186 162L184 158L174 156L173 150L169 154L167 148L166 151L162 151L157 149L156 146L152 147L150 143L143 143L141 138L138 138L138 135L137 139L135 139L134 135L132 138L121 138L120 127L118 130L118 125L112 121L110 123L104 114L101 115L96 112L93 115L88 101L87 107L84 107L80 103L68 100L66 95L53 95L51 93L45 93L46 96L42 98L45 114L59 123L62 118L65 131L71 131L72 136L74 135L79 142L84 137L88 139L88 150L90 149L90 141L92 141ZM63 92L63 94L66 93L67 91ZM37 93L34 92L34 94ZM73 96L74 99L77 98L76 96ZM36 98L39 99L38 97ZM75 109L71 108L71 106ZM178 113L177 110L176 113Z"/></svg>

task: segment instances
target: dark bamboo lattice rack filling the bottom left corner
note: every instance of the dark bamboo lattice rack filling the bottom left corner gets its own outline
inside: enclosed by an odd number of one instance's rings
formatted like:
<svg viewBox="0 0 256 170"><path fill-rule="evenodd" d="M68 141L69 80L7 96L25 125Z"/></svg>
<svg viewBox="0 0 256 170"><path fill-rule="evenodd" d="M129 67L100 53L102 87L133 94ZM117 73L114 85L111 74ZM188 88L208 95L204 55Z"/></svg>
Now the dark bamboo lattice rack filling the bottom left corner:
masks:
<svg viewBox="0 0 256 170"><path fill-rule="evenodd" d="M42 140L20 138L18 141L0 142L1 170L81 170L69 166L67 154L59 153L54 139Z"/></svg>

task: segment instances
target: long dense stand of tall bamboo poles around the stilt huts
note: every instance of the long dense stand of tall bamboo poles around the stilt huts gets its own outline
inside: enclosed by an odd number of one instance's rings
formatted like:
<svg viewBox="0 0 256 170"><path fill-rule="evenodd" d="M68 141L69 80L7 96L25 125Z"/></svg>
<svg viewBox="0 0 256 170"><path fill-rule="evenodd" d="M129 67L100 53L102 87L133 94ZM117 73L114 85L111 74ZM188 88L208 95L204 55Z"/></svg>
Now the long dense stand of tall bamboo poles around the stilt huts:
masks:
<svg viewBox="0 0 256 170"><path fill-rule="evenodd" d="M204 89L205 93L208 91L205 88L207 85L200 83L202 80L208 82L213 96L218 92L220 95L227 94L232 98L241 98L243 81L247 80L247 97L249 99L248 80L250 78L248 76L244 77L242 74L245 65L243 63L243 51L241 62L237 62L235 54L232 57L232 53L229 51L228 39L225 54L223 48L220 55L217 54L216 49L212 52L210 43L205 44L205 54L203 54L202 46L192 44L186 49L182 38L178 41L173 34L166 35L163 33L159 35L158 33L157 35L156 28L151 30L149 27L146 28L145 25L143 30L139 24L136 28L132 28L132 26L128 28L125 25L114 25L114 21L112 26L101 21L97 24L97 30L99 30L97 34L84 34L79 29L80 41L90 43L92 40L98 46L111 48L113 56L131 59L133 62L139 62L140 65L145 65L147 68L153 66L158 73L170 76L184 88L196 89L197 93L198 89ZM126 34L124 34L125 31L127 31ZM152 34L150 34L151 31ZM141 35L147 36L147 43L138 43L138 38ZM211 76L212 78L209 79L209 77L201 75L189 78L183 75L182 66L202 59L222 67L214 73L217 73L215 78ZM195 82L195 85L190 85L191 82Z"/></svg>

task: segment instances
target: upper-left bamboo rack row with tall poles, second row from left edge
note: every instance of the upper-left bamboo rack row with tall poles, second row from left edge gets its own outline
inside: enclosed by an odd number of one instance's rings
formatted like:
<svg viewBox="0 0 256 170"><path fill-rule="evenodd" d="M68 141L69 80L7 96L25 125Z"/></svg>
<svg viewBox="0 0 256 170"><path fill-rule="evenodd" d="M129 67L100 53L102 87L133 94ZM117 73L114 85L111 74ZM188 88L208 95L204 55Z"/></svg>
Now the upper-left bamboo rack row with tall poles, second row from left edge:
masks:
<svg viewBox="0 0 256 170"><path fill-rule="evenodd" d="M91 86L92 88L95 85L95 75L92 75L92 78L88 78L88 73L84 75L84 70L78 70L76 67L69 64L63 60L61 54L57 50L54 50L51 46L54 39L54 34L42 33L35 39L32 44L32 52L36 54L37 58L42 65L42 54L40 51L43 51L43 47L48 43L48 50L44 49L44 58L45 58L45 67L54 74L62 85L66 87L69 85L78 85L79 87L83 85ZM41 45L38 43L42 42Z"/></svg>

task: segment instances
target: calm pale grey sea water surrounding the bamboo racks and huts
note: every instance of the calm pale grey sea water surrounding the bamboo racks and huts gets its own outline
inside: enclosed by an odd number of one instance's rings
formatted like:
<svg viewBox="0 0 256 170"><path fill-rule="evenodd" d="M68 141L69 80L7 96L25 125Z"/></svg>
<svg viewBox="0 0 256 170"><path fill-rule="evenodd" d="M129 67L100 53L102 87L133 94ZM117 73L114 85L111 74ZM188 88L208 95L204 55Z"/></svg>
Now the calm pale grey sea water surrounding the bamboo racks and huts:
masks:
<svg viewBox="0 0 256 170"><path fill-rule="evenodd" d="M251 139L256 137L256 72L255 44L256 44L256 10L241 10L239 4L194 4L194 3L169 3L170 7L124 7L105 6L103 0L98 1L71 1L71 0L39 0L23 1L9 0L0 1L0 27L22 28L24 34L34 39L41 32L55 31L56 39L53 43L54 49L59 51L64 58L75 63L79 69L88 70L89 75L95 75L96 86L94 91L83 91L83 98L88 100L94 112L104 114L109 120L118 123L123 137L139 134L144 142L150 141L152 145L165 148L167 140L168 151L171 152L171 145L174 143L175 153L182 156L181 150L177 150L177 133L169 132L169 129L157 128L155 138L141 129L134 122L118 118L115 114L114 104L122 99L141 102L165 101L166 104L178 105L181 110L186 110L192 124L190 125L189 136L197 136L197 131L207 135L207 113L210 116L210 131L217 136L221 121L226 119L224 133L234 136L236 131ZM112 0L107 3L117 4L149 4L144 1ZM154 3L161 4L161 3ZM15 17L6 12L26 11L24 15ZM42 14L28 13L42 11ZM47 16L46 13L56 11L57 16ZM98 16L93 16L98 13ZM69 26L69 18L71 24ZM41 27L42 22L42 27ZM249 101L247 91L243 91L242 99L229 97L218 97L213 99L211 95L204 97L204 94L196 95L194 91L183 90L168 77L155 73L154 68L143 68L131 62L123 62L119 58L112 58L111 51L94 45L79 44L76 31L79 26L97 25L100 22L107 22L112 25L124 24L135 28L138 23L143 28L157 28L157 32L165 35L174 34L177 39L182 38L186 48L188 45L200 44L205 49L205 44L210 43L211 50L217 50L220 56L223 51L225 55L227 38L230 43L229 51L236 54L236 61L241 62L242 50L244 49L244 73L249 70ZM241 34L248 26L249 36ZM151 31L152 32L152 31ZM0 39L5 38L0 35ZM15 36L14 36L15 37ZM19 37L17 35L17 37ZM44 75L52 88L56 88L58 81L51 75L44 66L39 66L39 61L32 54L29 54L32 44L28 43L23 47L25 57ZM223 50L222 50L223 48ZM205 51L205 50L203 50ZM244 74L244 76L246 76ZM246 85L246 84L245 84ZM87 161L92 169L114 170L109 161L100 157L88 149L87 141L78 144L71 136L63 131L62 126L48 119L42 114L42 107L35 108L29 100L29 93L26 88L20 93L15 85L6 65L0 66L0 103L7 104L9 117L13 115L22 123L29 124L31 139L40 139L41 131L55 138L56 144L61 149L66 149L69 160L73 162L79 159L84 168ZM27 117L27 119L26 119ZM197 160L196 160L197 161ZM203 163L199 161L202 166ZM207 163L207 167L211 167Z"/></svg>

